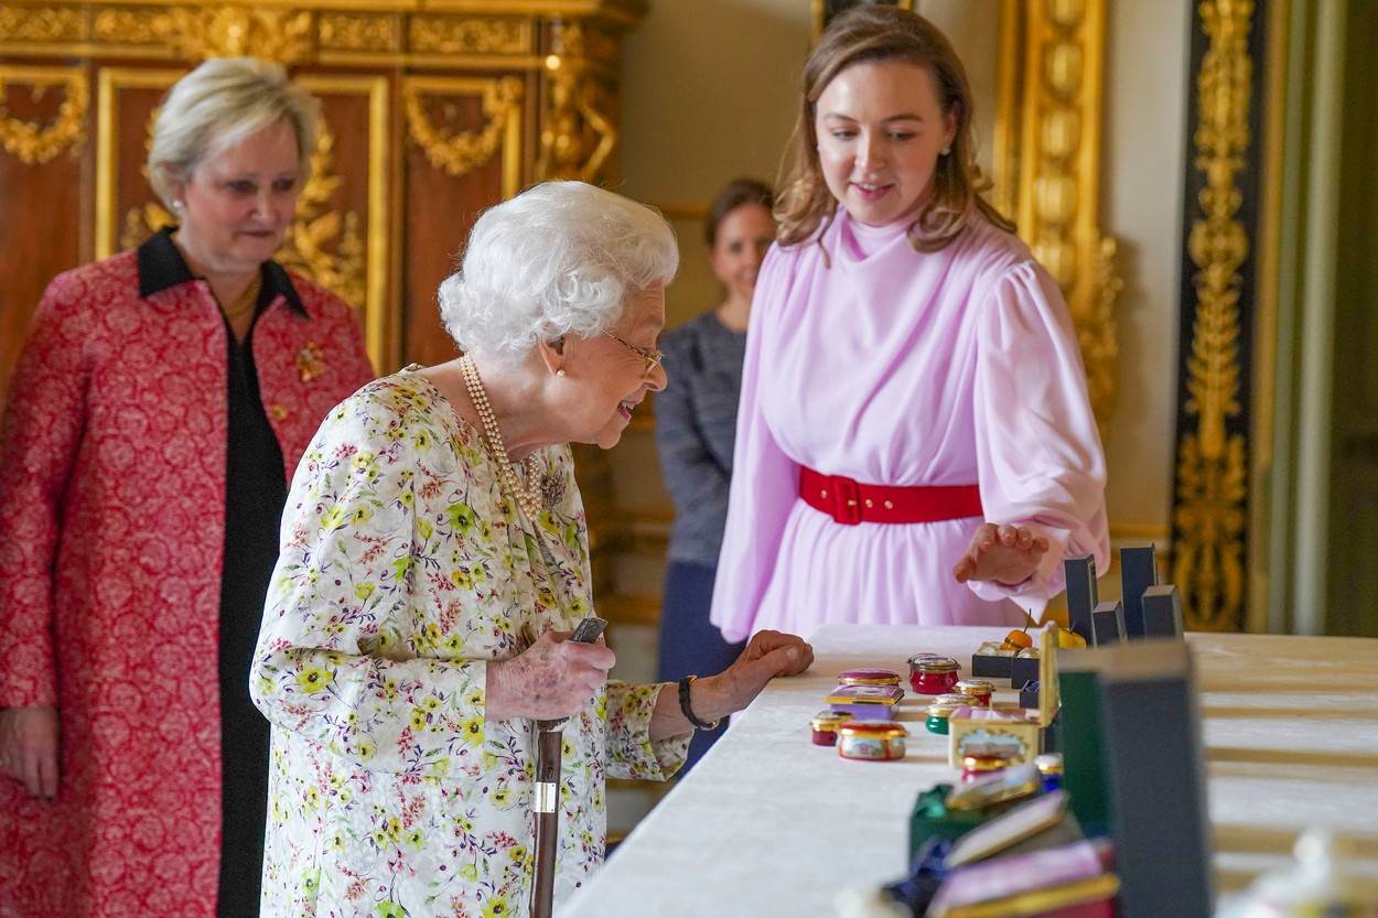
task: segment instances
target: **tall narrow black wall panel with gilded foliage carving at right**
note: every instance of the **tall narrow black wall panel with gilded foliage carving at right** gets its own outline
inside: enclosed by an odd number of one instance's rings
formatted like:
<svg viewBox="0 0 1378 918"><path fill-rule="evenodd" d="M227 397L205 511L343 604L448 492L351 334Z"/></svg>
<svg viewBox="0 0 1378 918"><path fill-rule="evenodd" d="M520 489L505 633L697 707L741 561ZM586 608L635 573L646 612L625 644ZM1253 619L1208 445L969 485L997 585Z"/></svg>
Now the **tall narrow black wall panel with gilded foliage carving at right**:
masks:
<svg viewBox="0 0 1378 918"><path fill-rule="evenodd" d="M1202 0L1192 18L1182 251L1173 582L1188 626L1244 627L1248 591L1250 367L1264 11Z"/></svg>

